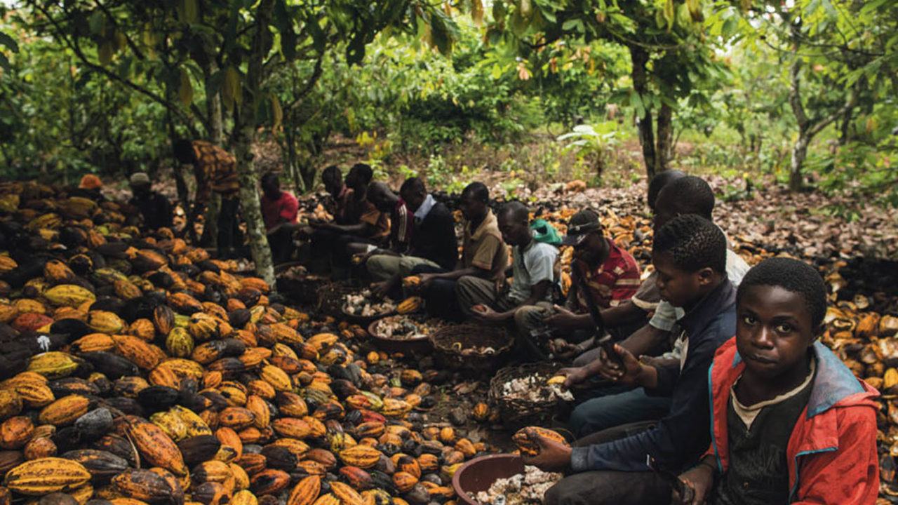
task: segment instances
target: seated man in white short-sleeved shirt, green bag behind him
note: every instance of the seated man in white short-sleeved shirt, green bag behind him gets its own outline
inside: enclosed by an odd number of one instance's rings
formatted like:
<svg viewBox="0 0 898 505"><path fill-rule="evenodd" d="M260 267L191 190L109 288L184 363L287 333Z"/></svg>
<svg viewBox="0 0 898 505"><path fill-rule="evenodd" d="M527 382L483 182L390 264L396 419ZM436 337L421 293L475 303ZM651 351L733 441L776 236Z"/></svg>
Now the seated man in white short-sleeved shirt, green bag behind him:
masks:
<svg viewBox="0 0 898 505"><path fill-rule="evenodd" d="M555 277L554 246L533 240L530 211L523 203L512 201L499 210L498 226L506 244L512 246L512 282L464 276L455 285L462 311L488 323L507 323L520 306L550 307ZM507 272L506 272L507 273Z"/></svg>

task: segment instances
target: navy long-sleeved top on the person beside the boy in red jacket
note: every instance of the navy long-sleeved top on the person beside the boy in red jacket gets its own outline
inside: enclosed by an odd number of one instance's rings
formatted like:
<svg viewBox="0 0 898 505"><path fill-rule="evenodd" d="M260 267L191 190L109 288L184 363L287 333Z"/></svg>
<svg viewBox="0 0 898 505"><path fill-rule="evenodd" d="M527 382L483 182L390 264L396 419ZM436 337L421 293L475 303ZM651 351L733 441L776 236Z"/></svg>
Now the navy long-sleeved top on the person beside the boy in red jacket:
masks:
<svg viewBox="0 0 898 505"><path fill-rule="evenodd" d="M724 279L678 321L689 338L682 365L657 368L658 384L647 394L670 395L671 409L655 428L625 439L589 447L575 447L571 467L575 472L616 470L645 472L657 465L679 472L708 448L708 370L714 353L735 334L735 288Z"/></svg>

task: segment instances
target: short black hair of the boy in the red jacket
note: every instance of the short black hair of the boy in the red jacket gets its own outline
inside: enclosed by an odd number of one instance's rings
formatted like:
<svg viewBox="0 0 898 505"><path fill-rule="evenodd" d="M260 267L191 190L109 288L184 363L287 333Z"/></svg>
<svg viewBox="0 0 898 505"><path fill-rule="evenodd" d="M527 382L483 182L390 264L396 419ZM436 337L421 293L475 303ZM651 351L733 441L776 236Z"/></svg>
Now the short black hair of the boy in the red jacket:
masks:
<svg viewBox="0 0 898 505"><path fill-rule="evenodd" d="M779 286L801 296L814 327L826 316L826 284L814 267L792 258L769 258L754 265L736 289L736 303L753 286Z"/></svg>

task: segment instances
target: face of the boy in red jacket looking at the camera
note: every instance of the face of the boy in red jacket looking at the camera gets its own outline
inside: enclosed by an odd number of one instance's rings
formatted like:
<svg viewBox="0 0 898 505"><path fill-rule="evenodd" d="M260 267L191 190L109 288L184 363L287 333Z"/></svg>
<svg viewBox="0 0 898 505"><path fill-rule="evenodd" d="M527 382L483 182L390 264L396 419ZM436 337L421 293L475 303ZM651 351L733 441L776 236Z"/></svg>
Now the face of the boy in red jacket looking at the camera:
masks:
<svg viewBox="0 0 898 505"><path fill-rule="evenodd" d="M745 367L760 377L795 370L820 329L801 295L779 286L747 288L736 306L736 349Z"/></svg>

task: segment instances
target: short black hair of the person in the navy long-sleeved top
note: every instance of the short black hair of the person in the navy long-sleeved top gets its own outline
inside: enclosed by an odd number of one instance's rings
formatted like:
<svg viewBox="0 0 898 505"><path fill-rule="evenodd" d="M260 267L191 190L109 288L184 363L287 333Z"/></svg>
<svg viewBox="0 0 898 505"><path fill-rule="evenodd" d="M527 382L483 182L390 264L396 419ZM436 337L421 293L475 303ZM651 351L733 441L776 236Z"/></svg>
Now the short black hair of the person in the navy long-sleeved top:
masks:
<svg viewBox="0 0 898 505"><path fill-rule="evenodd" d="M669 253L684 271L710 268L726 272L726 236L717 225L695 214L674 217L658 230L652 254Z"/></svg>

